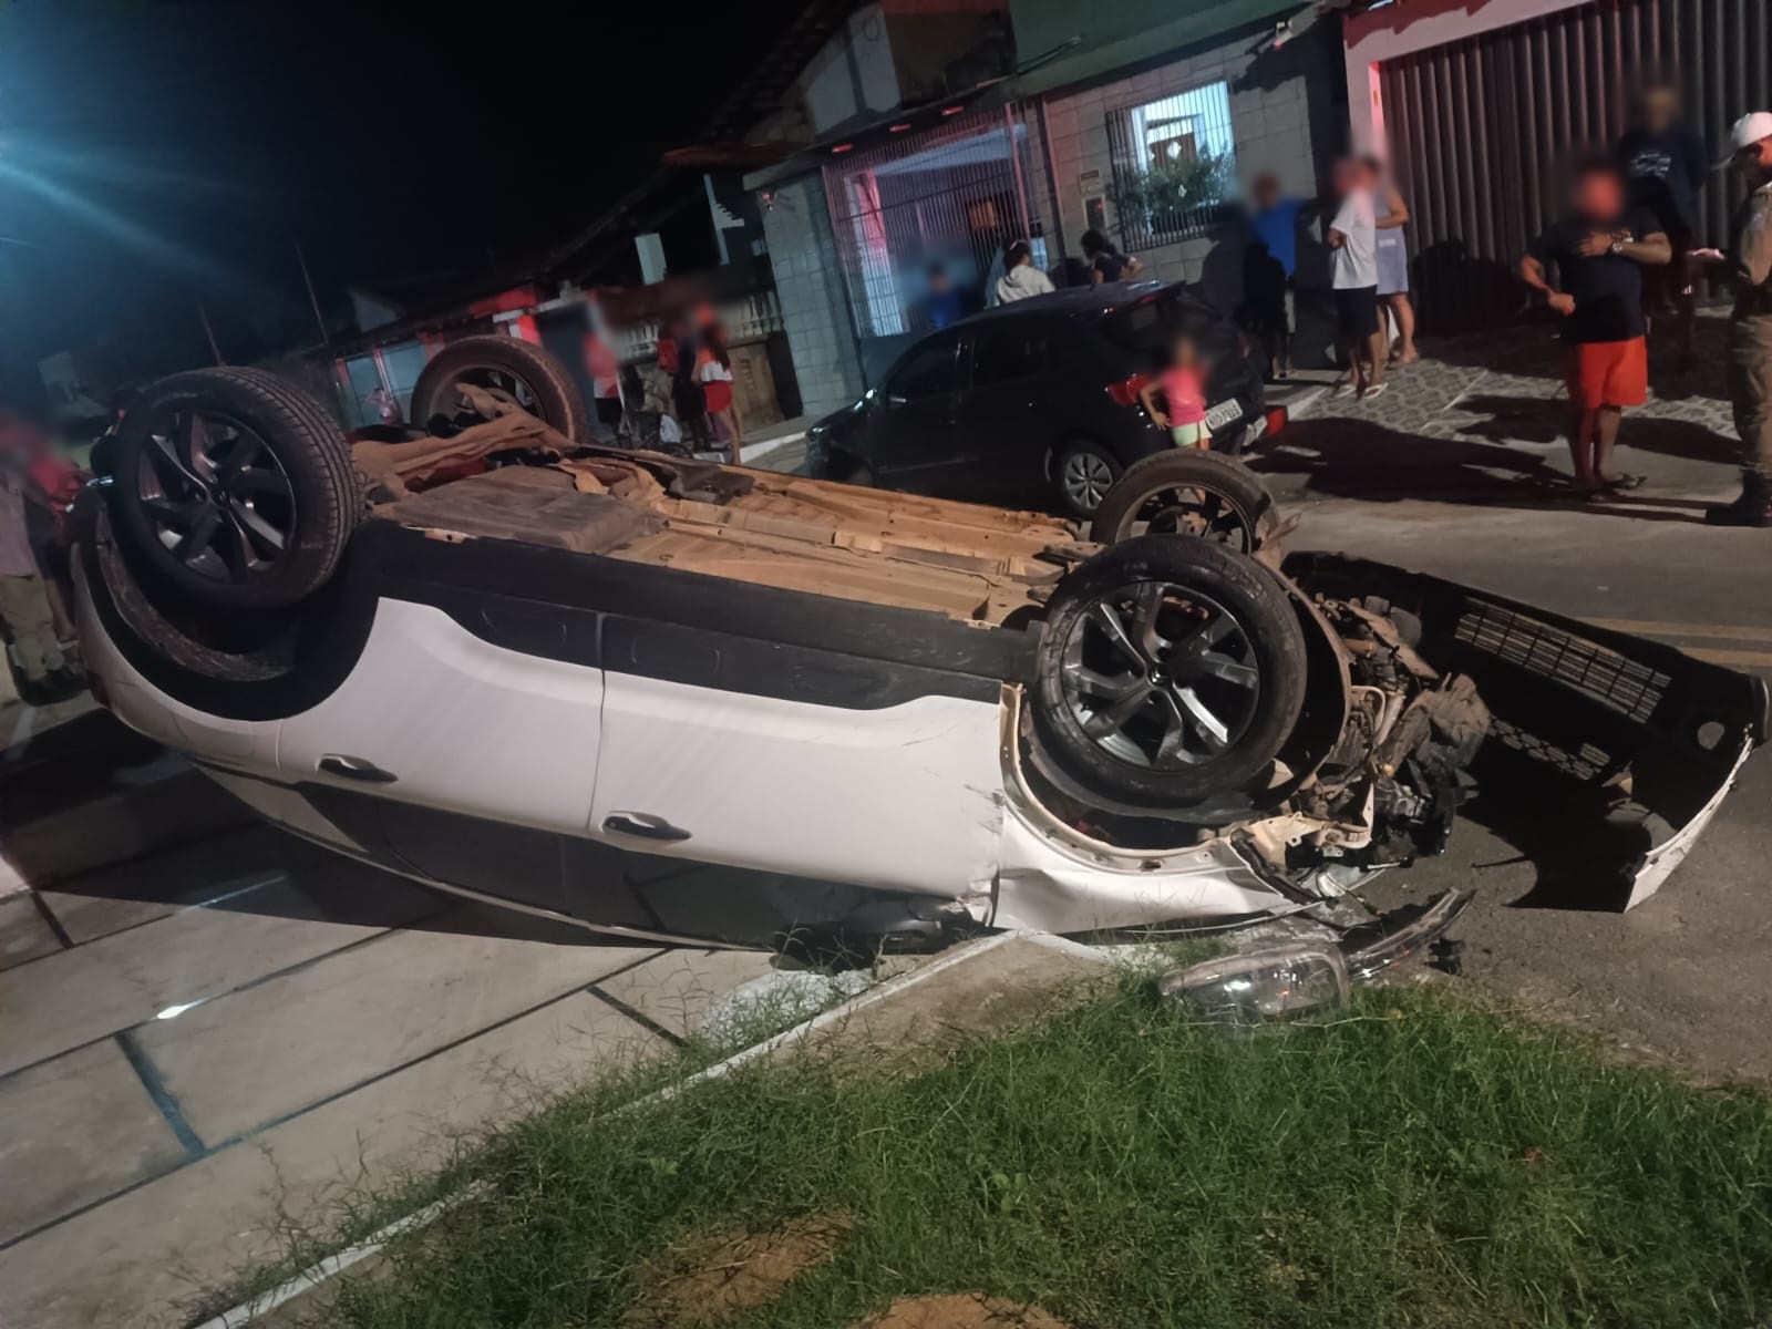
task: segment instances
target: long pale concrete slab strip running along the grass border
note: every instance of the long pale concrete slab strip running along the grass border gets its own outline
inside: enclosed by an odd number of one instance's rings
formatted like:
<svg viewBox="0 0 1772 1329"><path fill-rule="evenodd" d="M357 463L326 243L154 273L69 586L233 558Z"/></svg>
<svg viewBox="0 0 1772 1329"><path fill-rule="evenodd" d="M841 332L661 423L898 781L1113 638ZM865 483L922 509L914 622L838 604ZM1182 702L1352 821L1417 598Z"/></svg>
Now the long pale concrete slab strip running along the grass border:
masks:
<svg viewBox="0 0 1772 1329"><path fill-rule="evenodd" d="M436 1166L452 1143L657 1047L578 992L0 1251L0 1324L175 1329L197 1290L278 1253L280 1216Z"/></svg>

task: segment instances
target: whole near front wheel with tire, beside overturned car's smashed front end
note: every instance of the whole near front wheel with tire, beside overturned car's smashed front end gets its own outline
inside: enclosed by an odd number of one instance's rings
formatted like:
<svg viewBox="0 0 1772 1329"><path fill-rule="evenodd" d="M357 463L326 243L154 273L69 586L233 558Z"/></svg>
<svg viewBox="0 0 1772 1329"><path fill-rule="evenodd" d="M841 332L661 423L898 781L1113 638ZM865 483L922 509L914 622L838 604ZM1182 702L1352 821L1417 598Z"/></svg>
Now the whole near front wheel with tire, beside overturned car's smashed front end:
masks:
<svg viewBox="0 0 1772 1329"><path fill-rule="evenodd" d="M1269 773L1304 675L1304 631L1272 572L1201 540L1127 540L1047 606L1033 739L1102 797L1185 808Z"/></svg>

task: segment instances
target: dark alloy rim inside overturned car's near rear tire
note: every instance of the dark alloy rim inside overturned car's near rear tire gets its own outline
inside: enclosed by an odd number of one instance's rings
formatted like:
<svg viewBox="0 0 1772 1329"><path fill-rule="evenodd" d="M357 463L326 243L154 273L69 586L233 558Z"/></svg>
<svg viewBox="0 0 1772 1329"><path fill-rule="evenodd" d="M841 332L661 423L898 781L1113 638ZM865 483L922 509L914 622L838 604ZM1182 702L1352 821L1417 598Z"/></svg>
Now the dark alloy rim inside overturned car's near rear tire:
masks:
<svg viewBox="0 0 1772 1329"><path fill-rule="evenodd" d="M211 581L275 572L294 546L289 473L253 429L213 411L174 411L149 429L138 496L154 539Z"/></svg>

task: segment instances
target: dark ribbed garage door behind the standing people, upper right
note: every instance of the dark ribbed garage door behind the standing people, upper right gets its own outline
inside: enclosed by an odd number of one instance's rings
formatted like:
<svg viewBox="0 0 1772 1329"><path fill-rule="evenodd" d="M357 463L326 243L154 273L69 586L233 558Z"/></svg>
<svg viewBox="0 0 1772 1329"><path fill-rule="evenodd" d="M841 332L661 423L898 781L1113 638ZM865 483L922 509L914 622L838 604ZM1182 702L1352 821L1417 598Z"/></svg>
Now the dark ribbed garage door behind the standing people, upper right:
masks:
<svg viewBox="0 0 1772 1329"><path fill-rule="evenodd" d="M1637 71L1669 69L1722 154L1728 126L1772 105L1768 0L1604 0L1389 60L1380 67L1391 163L1409 195L1411 276L1423 326L1517 319L1513 264L1558 213L1572 154L1623 133ZM1735 186L1719 175L1699 236L1722 243Z"/></svg>

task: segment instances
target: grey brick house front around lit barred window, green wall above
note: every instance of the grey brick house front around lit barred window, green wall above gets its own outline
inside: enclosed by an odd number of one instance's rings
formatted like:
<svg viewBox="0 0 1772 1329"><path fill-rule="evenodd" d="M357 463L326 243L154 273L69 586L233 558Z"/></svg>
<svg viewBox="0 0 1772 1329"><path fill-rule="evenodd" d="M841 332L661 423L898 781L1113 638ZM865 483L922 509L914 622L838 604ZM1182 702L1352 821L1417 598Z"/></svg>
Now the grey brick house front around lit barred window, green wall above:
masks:
<svg viewBox="0 0 1772 1329"><path fill-rule="evenodd" d="M1194 7L1017 0L1021 50L1074 41L1015 80L1038 106L1051 227L1067 253L1090 227L1168 282L1198 282L1221 308L1242 296L1235 204L1272 172L1315 197L1345 145L1340 25L1315 5Z"/></svg>

